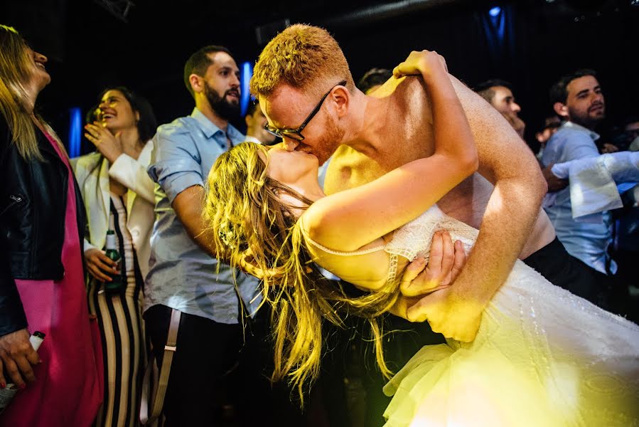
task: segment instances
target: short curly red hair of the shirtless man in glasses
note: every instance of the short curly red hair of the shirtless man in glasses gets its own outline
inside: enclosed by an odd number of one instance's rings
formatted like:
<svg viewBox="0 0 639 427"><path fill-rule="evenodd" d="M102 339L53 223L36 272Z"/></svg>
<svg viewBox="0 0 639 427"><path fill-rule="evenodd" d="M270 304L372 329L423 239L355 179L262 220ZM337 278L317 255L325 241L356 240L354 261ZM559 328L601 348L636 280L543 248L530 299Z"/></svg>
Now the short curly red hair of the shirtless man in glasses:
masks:
<svg viewBox="0 0 639 427"><path fill-rule="evenodd" d="M253 68L250 90L257 97L271 95L280 84L321 96L346 80L355 88L348 62L335 38L324 28L297 23L275 36Z"/></svg>

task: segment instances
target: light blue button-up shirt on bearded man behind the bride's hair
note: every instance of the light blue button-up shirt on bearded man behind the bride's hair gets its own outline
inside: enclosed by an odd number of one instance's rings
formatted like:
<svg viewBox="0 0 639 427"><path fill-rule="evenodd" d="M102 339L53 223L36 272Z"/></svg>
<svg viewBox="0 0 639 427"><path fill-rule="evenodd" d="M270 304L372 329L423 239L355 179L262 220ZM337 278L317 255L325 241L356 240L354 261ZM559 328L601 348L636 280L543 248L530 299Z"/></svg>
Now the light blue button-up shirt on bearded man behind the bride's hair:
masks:
<svg viewBox="0 0 639 427"><path fill-rule="evenodd" d="M228 126L233 144L244 140ZM188 117L162 125L153 138L149 176L156 181L156 221L146 276L144 310L156 304L220 323L237 323L242 296L249 313L262 300L259 282L202 251L186 233L171 204L193 185L204 186L215 159L227 149L227 135L197 108ZM235 276L235 280L234 280Z"/></svg>

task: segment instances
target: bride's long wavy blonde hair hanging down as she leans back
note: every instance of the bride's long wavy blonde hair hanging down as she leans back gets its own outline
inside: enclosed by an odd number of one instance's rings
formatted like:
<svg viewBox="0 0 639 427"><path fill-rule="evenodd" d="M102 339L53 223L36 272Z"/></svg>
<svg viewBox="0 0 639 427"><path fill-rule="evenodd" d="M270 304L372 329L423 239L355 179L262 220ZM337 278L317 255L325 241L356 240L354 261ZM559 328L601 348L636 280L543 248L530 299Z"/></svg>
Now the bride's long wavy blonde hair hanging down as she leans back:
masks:
<svg viewBox="0 0 639 427"><path fill-rule="evenodd" d="M389 376L377 317L397 300L390 292L352 297L340 283L323 278L304 246L293 209L312 202L267 176L267 149L242 142L218 157L208 176L205 221L214 231L218 258L240 268L248 259L263 274L264 301L272 305L273 381L288 377L304 404L304 386L315 380L322 356L322 320L344 327L342 316L364 317L372 328L377 364ZM279 194L294 196L299 206Z"/></svg>

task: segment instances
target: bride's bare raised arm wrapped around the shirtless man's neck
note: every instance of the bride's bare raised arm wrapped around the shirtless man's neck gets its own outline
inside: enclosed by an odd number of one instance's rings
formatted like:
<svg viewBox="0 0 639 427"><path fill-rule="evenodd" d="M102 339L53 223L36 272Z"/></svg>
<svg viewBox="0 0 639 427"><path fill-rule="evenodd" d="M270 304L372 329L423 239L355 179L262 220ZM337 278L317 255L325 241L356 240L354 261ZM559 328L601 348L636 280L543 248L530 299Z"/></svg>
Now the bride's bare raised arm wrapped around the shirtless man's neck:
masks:
<svg viewBox="0 0 639 427"><path fill-rule="evenodd" d="M316 201L302 221L313 241L335 251L355 251L417 218L476 171L473 136L444 58L414 51L394 70L396 77L418 73L432 102L435 153Z"/></svg>

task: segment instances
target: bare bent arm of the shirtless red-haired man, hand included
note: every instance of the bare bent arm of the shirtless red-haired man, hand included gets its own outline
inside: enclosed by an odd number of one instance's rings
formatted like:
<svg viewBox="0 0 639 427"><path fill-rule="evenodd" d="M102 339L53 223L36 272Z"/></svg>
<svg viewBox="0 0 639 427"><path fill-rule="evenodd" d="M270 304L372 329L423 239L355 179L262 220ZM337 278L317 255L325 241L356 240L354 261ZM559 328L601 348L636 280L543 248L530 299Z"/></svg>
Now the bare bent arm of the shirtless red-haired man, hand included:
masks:
<svg viewBox="0 0 639 427"><path fill-rule="evenodd" d="M451 77L471 125L479 170L495 185L477 242L450 288L409 308L412 321L428 320L446 337L470 341L483 309L508 278L532 231L547 187L532 151L485 100Z"/></svg>

